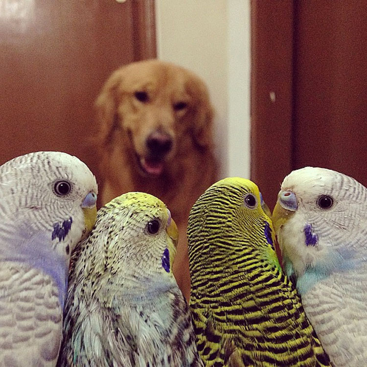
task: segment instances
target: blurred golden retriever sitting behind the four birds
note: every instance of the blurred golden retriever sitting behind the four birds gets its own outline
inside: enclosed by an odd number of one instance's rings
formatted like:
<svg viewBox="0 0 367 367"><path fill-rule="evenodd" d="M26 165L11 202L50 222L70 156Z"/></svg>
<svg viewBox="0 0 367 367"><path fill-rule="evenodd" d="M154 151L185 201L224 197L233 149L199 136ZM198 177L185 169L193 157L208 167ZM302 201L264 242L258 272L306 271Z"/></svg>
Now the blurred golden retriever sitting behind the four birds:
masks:
<svg viewBox="0 0 367 367"><path fill-rule="evenodd" d="M187 218L217 179L206 85L174 64L140 61L113 72L95 105L102 204L143 191L167 205L180 235L173 273L188 298Z"/></svg>

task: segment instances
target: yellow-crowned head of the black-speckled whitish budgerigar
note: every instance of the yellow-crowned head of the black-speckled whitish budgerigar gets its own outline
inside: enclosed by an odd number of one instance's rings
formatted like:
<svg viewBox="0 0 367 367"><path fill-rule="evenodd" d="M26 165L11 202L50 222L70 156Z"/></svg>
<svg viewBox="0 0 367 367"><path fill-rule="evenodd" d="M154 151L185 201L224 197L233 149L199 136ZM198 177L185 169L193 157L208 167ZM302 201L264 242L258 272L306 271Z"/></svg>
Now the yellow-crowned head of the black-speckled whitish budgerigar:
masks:
<svg viewBox="0 0 367 367"><path fill-rule="evenodd" d="M161 200L129 192L103 206L85 246L95 252L95 269L105 284L140 292L172 286L178 229Z"/></svg>

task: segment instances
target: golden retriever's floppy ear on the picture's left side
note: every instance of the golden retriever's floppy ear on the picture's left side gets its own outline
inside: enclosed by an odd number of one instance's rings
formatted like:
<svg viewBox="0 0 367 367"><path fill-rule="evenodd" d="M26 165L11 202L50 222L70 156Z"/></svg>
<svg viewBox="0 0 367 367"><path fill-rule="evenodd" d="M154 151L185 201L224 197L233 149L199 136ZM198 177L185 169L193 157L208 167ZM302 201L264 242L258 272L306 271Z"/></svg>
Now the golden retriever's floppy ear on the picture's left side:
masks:
<svg viewBox="0 0 367 367"><path fill-rule="evenodd" d="M94 139L97 145L105 146L118 125L118 86L123 82L123 75L123 68L114 71L94 102L97 122Z"/></svg>

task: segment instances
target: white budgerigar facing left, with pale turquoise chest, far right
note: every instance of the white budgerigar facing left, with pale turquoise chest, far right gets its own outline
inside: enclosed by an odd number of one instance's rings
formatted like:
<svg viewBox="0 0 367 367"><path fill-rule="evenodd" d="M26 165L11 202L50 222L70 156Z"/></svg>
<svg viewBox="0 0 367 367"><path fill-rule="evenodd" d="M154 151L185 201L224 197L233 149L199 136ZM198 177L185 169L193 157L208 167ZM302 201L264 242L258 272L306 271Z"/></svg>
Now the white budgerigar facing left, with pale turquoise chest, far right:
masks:
<svg viewBox="0 0 367 367"><path fill-rule="evenodd" d="M287 274L335 367L367 361L367 188L330 169L283 181L274 226Z"/></svg>

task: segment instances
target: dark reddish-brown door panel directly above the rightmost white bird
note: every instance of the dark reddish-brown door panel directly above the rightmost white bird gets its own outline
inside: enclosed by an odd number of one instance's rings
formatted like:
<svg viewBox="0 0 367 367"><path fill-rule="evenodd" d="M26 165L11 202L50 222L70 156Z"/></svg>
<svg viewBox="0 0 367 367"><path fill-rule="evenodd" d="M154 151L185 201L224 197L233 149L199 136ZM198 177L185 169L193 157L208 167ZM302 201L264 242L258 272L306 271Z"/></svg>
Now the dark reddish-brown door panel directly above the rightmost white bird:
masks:
<svg viewBox="0 0 367 367"><path fill-rule="evenodd" d="M298 1L293 168L367 185L367 2Z"/></svg>

